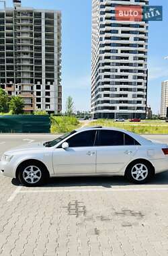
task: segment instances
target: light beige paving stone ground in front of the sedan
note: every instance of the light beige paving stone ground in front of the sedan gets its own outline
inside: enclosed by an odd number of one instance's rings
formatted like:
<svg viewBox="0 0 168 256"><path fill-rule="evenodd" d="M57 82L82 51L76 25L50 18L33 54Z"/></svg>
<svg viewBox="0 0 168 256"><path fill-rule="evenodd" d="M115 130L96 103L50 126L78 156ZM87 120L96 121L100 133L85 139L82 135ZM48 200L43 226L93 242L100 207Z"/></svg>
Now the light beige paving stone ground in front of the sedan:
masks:
<svg viewBox="0 0 168 256"><path fill-rule="evenodd" d="M134 186L122 178L83 182L53 179L44 187L22 187L7 201L17 186L0 176L0 255L168 255L168 190L138 190L168 189L167 184Z"/></svg>

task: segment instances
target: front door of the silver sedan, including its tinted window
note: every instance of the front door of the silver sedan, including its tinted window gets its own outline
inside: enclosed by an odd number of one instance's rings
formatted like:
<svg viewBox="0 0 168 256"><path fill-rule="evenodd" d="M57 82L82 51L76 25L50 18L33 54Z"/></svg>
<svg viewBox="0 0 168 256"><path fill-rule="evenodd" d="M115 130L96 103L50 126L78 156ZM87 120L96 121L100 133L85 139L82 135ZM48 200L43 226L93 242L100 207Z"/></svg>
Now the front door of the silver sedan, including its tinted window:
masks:
<svg viewBox="0 0 168 256"><path fill-rule="evenodd" d="M56 148L52 155L54 174L94 174L95 130L75 133L66 140L69 148Z"/></svg>

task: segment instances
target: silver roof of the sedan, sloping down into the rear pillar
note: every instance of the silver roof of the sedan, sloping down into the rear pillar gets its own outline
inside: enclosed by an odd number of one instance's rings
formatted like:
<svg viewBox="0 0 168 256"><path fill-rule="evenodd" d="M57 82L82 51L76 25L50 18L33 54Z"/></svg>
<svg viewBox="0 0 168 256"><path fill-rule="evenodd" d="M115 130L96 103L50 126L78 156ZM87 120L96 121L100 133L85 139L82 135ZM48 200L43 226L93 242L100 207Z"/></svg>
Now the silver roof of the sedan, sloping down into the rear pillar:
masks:
<svg viewBox="0 0 168 256"><path fill-rule="evenodd" d="M93 127L81 127L79 129L75 129L75 131L89 131L89 130L93 130L93 129L106 129L106 130L111 130L111 131L122 131L128 135L130 135L131 137L133 137L134 139L136 139L141 145L151 145L152 141L150 141L149 139L145 139L144 137L136 134L136 133L132 133L131 131L127 131L124 129L120 129L120 128L116 128L116 127L103 127L103 126L93 126Z"/></svg>

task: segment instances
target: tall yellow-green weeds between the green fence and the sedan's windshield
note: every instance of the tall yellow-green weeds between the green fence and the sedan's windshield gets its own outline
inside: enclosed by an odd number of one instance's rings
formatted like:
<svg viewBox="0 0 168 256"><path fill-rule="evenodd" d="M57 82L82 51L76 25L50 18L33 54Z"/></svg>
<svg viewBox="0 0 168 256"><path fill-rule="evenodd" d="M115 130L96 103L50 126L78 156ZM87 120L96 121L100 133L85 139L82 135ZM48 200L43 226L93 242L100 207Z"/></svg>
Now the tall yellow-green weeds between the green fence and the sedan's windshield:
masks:
<svg viewBox="0 0 168 256"><path fill-rule="evenodd" d="M81 125L76 117L51 117L51 133L67 133Z"/></svg>

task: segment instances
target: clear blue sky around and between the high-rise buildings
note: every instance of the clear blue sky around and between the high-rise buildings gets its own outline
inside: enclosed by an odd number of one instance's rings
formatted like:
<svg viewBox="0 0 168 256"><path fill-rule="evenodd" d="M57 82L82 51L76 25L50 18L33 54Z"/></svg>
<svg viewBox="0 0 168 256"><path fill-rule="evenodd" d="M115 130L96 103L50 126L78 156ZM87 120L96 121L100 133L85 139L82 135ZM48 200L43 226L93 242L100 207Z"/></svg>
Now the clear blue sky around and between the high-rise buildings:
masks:
<svg viewBox="0 0 168 256"><path fill-rule="evenodd" d="M6 3L12 6L11 0ZM163 21L149 23L148 104L158 114L161 82L168 79L168 59L164 59L168 56L168 1L151 0L149 4L163 5ZM22 5L62 11L62 108L72 96L75 110L90 110L91 0L22 0Z"/></svg>

